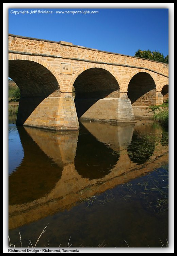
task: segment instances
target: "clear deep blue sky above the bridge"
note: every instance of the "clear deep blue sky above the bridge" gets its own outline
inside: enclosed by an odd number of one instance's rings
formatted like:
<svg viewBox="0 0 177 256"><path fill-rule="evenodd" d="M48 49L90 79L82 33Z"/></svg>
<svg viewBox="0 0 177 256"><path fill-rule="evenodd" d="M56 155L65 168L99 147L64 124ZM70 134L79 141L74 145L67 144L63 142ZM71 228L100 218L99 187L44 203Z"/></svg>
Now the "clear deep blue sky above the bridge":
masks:
<svg viewBox="0 0 177 256"><path fill-rule="evenodd" d="M11 14L48 10L53 14ZM56 11L98 11L57 14ZM134 55L138 49L168 54L168 9L9 9L9 33L67 41L103 51Z"/></svg>

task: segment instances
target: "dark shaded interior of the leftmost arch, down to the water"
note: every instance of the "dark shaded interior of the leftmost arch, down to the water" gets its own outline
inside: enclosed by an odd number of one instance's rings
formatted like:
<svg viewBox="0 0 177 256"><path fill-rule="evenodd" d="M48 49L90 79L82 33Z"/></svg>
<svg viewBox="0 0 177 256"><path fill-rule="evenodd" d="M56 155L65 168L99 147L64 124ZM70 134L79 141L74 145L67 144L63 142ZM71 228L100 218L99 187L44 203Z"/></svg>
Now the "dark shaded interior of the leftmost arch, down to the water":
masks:
<svg viewBox="0 0 177 256"><path fill-rule="evenodd" d="M23 125L45 98L60 90L51 71L35 61L9 60L9 77L17 84L21 94L18 125Z"/></svg>

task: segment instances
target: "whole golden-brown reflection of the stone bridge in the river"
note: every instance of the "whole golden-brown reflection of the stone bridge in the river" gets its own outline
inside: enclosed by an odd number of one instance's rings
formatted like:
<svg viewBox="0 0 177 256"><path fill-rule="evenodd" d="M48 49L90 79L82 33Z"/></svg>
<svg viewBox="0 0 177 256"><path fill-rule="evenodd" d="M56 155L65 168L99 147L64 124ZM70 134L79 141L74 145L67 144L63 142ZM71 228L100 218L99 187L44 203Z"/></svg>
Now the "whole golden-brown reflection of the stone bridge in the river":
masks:
<svg viewBox="0 0 177 256"><path fill-rule="evenodd" d="M18 127L18 132L24 158L9 176L9 229L68 210L168 159L162 128L151 121L82 121L75 132L32 127Z"/></svg>

